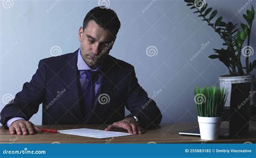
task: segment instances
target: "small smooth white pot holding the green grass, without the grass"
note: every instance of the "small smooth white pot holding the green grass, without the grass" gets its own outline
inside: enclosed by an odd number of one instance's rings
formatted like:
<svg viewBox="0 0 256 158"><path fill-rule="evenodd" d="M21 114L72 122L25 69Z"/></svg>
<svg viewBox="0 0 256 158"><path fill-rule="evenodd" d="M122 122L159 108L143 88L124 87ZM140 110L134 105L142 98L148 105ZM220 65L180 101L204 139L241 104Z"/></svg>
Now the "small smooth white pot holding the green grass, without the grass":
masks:
<svg viewBox="0 0 256 158"><path fill-rule="evenodd" d="M198 116L200 136L203 140L217 140L222 117Z"/></svg>

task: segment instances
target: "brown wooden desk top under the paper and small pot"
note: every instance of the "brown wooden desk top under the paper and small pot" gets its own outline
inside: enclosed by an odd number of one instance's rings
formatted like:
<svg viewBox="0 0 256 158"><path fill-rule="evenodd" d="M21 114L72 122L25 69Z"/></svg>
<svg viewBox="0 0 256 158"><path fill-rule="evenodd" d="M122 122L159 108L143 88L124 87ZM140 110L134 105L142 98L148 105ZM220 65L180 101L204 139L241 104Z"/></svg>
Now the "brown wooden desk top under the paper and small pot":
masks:
<svg viewBox="0 0 256 158"><path fill-rule="evenodd" d="M92 128L102 129L101 125L55 125L39 126L52 129ZM95 139L84 136L66 135L60 133L36 133L34 135L11 135L9 130L0 127L0 143L256 143L256 122L250 122L250 129L241 138L219 139L215 141L201 140L200 136L179 135L180 130L197 127L198 123L164 123L158 128L147 129L144 134L120 136L107 139ZM223 122L222 127L228 127ZM125 132L125 131L122 131Z"/></svg>

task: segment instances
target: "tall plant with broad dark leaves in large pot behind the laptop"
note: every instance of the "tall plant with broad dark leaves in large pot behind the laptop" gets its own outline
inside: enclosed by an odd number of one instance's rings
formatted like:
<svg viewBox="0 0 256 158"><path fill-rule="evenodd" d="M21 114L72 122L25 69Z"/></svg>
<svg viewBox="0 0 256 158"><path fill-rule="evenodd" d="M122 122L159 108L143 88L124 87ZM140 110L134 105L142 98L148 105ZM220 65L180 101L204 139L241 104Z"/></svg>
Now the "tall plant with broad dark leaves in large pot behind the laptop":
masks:
<svg viewBox="0 0 256 158"><path fill-rule="evenodd" d="M233 83L243 84L252 83L254 75L251 74L256 68L256 60L251 61L249 57L253 55L253 48L250 46L251 29L254 20L254 8L246 10L246 14L242 15L247 24L238 24L232 22L224 22L223 17L215 18L217 10L208 7L205 0L185 0L190 9L195 10L194 13L202 18L223 40L223 48L213 49L214 54L209 56L211 59L219 59L226 67L229 74L219 77L220 87L228 89L227 107L230 107L231 85ZM247 42L246 42L247 39ZM241 57L245 57L244 63ZM244 64L244 65L243 65ZM248 102L250 106L250 102ZM244 106L247 108L247 106Z"/></svg>

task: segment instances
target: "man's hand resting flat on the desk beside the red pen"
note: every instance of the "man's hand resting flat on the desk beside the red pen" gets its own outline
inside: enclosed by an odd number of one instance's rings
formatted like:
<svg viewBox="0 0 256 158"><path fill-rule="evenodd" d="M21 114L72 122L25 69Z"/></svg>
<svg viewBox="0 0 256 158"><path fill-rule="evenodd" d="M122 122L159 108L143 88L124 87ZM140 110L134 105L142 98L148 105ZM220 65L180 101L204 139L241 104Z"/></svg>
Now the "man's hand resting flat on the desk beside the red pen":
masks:
<svg viewBox="0 0 256 158"><path fill-rule="evenodd" d="M42 130L31 123L30 121L25 120L17 120L11 123L11 126L9 127L10 134L15 134L15 132L18 135L27 135L27 134L33 134L34 132L41 133Z"/></svg>

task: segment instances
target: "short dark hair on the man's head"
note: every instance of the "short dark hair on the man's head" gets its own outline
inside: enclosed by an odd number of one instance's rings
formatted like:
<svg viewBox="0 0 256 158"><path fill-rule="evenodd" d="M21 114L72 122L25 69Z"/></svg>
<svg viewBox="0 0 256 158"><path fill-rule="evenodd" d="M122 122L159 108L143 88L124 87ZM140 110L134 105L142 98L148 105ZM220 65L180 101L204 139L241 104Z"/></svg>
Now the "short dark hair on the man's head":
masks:
<svg viewBox="0 0 256 158"><path fill-rule="evenodd" d="M86 14L83 30L90 20L95 20L100 27L110 31L113 36L116 36L121 25L116 12L112 9L106 9L104 6L97 6Z"/></svg>

